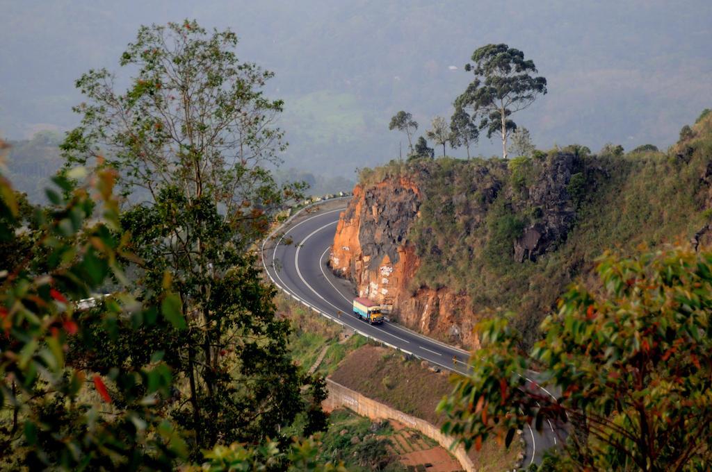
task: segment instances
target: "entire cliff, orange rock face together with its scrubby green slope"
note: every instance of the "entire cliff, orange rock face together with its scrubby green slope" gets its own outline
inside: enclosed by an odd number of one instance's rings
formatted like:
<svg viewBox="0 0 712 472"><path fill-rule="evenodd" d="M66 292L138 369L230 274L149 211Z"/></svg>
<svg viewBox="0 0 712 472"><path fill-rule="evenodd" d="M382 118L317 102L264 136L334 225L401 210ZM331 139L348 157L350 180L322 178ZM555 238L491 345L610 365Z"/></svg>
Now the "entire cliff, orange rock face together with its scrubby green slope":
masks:
<svg viewBox="0 0 712 472"><path fill-rule="evenodd" d="M567 285L595 279L604 250L711 247L712 114L666 153L642 147L367 169L330 265L422 333L476 348L473 325L502 309L531 345Z"/></svg>

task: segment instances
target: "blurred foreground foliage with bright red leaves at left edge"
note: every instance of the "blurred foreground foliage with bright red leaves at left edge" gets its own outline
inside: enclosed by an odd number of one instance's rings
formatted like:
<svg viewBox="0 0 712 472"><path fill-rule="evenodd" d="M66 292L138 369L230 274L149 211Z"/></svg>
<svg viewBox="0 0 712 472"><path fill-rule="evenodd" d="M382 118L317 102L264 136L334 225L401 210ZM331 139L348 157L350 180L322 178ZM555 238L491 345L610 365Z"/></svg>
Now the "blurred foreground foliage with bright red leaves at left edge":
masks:
<svg viewBox="0 0 712 472"><path fill-rule="evenodd" d="M186 447L162 415L172 375L157 349L144 346L147 362L102 372L86 370L68 352L73 345L100 358L116 341L112 326L120 319L135 333L170 332L168 320L182 319L169 290L156 297L169 306L163 311L120 290L80 316L86 307L76 301L108 277L125 281L117 259L130 257L112 195L115 171L81 175L70 174L81 180L76 187L54 178L47 191L53 205L27 217L0 173L0 241L23 251L0 262L0 468L171 468ZM30 222L18 230L23 220ZM88 333L89 318L101 343Z"/></svg>

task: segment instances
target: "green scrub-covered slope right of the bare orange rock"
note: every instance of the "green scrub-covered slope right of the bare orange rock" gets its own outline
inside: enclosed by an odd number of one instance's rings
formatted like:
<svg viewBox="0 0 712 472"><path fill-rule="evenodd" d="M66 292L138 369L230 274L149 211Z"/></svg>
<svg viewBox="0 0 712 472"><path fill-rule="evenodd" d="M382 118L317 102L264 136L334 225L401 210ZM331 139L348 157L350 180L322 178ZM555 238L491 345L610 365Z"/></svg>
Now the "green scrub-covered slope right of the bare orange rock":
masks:
<svg viewBox="0 0 712 472"><path fill-rule="evenodd" d="M666 152L640 146L597 155L572 145L532 158L416 159L366 168L367 187L399 175L417 183L409 229L420 267L412 289L467 294L476 312L521 313L527 342L573 279L605 249L696 239L712 213L712 114L703 112Z"/></svg>

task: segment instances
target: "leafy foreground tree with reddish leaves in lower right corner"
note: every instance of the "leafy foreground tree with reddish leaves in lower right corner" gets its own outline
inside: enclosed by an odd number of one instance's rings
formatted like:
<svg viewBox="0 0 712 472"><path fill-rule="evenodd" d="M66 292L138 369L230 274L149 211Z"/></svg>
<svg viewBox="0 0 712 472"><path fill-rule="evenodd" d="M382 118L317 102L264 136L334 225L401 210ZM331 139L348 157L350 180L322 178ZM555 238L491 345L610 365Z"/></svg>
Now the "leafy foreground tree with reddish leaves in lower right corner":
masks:
<svg viewBox="0 0 712 472"><path fill-rule="evenodd" d="M712 252L606 254L601 288L572 286L526 355L484 323L472 374L439 408L468 448L525 423L570 421L561 470L704 470L712 462ZM528 385L528 368L555 399Z"/></svg>

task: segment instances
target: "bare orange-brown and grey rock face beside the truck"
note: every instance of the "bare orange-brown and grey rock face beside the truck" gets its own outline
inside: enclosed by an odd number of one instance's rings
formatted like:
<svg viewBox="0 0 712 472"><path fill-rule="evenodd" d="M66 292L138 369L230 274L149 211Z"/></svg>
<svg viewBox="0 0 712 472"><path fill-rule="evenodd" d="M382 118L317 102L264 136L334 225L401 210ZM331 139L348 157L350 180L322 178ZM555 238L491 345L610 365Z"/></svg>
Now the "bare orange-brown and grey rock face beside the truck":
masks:
<svg viewBox="0 0 712 472"><path fill-rule="evenodd" d="M337 224L330 267L354 281L359 296L383 304L404 326L476 348L467 296L412 286L420 261L407 236L418 216L420 195L407 178L387 178L367 188L357 185Z"/></svg>

